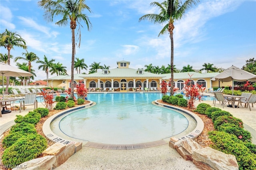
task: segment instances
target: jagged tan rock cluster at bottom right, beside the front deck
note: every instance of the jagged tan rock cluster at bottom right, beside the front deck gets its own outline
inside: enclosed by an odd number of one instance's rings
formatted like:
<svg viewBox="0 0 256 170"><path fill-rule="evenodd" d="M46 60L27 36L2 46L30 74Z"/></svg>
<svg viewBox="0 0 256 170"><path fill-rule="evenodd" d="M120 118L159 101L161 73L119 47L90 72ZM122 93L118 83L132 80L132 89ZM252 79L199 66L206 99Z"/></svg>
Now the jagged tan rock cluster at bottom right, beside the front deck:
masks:
<svg viewBox="0 0 256 170"><path fill-rule="evenodd" d="M210 147L203 148L191 138L170 138L169 146L185 160L191 160L200 170L238 170L236 157Z"/></svg>

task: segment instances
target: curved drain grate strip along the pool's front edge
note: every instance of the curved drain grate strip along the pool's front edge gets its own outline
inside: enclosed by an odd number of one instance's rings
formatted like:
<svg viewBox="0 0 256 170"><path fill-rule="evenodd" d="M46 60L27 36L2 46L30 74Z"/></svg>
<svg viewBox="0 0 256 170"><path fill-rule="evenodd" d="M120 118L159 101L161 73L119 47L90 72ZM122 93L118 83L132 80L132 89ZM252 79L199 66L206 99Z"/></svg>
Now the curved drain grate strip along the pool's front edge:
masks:
<svg viewBox="0 0 256 170"><path fill-rule="evenodd" d="M154 142L146 142L139 144L103 144L103 143L94 143L87 142L84 146L90 148L98 148L98 149L112 149L112 150L132 150L132 149L142 149L142 148L150 148L154 146L160 146L167 144L164 140L157 140Z"/></svg>

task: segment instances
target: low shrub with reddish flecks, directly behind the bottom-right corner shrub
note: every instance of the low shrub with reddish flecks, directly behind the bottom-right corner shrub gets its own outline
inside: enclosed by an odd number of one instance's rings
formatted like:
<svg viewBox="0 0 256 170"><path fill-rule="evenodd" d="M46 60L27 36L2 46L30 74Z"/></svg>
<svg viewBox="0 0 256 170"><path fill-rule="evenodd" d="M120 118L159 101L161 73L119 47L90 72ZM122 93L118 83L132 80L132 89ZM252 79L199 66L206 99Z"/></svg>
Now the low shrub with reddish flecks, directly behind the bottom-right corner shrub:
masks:
<svg viewBox="0 0 256 170"><path fill-rule="evenodd" d="M250 132L244 130L244 128L237 127L234 124L224 123L218 127L218 130L229 134L234 134L242 141L251 141L252 139Z"/></svg>

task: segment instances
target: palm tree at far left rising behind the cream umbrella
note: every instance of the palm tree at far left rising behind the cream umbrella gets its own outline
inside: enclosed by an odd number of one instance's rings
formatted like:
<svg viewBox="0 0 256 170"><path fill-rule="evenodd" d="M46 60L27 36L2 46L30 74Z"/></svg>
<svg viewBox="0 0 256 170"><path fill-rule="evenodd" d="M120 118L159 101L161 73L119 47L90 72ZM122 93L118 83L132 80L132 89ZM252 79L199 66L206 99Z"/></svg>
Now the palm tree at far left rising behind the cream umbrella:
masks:
<svg viewBox="0 0 256 170"><path fill-rule="evenodd" d="M8 60L7 64L10 65L10 51L14 49L15 46L22 47L23 49L27 49L26 42L19 34L16 32L11 32L9 30L5 30L2 34L0 34L0 46L5 47L8 51ZM6 77L6 89L4 94L8 94L9 87L9 77Z"/></svg>

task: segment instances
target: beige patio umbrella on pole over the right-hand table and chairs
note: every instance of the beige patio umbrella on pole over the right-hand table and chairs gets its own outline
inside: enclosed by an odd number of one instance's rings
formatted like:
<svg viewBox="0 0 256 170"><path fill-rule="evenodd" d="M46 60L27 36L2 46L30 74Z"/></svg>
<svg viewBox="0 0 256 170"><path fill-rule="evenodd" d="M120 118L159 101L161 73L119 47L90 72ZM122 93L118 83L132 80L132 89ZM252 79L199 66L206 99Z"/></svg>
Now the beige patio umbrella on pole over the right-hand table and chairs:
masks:
<svg viewBox="0 0 256 170"><path fill-rule="evenodd" d="M232 95L234 95L234 81L256 81L256 75L244 71L238 67L232 65L222 73L216 75L215 77L211 78L213 81L232 81Z"/></svg>

